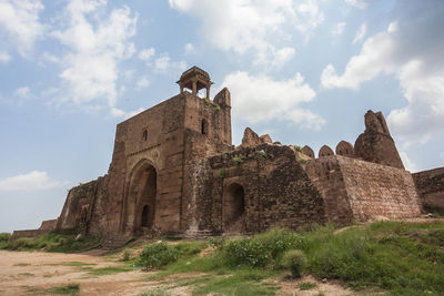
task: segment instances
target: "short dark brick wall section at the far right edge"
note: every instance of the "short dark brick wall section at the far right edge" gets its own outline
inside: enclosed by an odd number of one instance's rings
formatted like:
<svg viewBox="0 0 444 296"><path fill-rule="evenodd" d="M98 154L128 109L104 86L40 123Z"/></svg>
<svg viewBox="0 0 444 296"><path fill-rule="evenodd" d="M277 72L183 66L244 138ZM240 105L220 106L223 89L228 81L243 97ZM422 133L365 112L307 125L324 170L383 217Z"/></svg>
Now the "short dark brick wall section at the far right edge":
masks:
<svg viewBox="0 0 444 296"><path fill-rule="evenodd" d="M412 174L424 212L444 215L444 167Z"/></svg>

